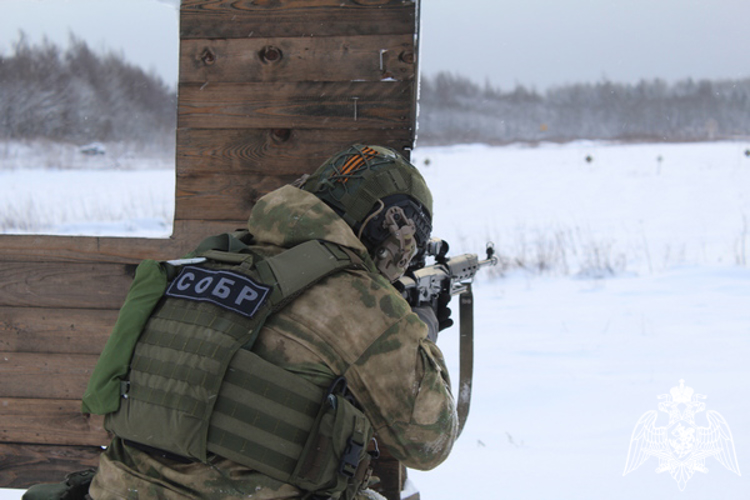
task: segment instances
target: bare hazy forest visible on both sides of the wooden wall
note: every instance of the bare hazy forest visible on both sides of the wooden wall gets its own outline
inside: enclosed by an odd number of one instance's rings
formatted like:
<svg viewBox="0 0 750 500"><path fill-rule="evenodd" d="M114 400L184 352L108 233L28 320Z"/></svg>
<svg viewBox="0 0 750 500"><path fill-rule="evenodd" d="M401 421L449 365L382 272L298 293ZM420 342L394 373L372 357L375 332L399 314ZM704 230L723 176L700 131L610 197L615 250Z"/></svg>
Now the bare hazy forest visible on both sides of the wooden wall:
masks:
<svg viewBox="0 0 750 500"><path fill-rule="evenodd" d="M121 54L70 37L65 50L21 35L0 54L0 139L136 141L174 147L174 89ZM419 144L703 141L750 136L750 78L602 81L544 93L503 91L460 75L421 82Z"/></svg>

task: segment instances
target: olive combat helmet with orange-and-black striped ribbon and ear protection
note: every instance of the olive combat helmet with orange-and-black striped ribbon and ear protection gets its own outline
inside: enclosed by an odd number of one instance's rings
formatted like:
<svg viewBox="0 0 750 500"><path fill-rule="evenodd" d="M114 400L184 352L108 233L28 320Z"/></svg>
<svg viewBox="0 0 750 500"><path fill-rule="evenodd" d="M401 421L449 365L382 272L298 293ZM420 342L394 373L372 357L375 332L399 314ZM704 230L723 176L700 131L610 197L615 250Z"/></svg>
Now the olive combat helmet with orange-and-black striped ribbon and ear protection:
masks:
<svg viewBox="0 0 750 500"><path fill-rule="evenodd" d="M396 151L355 144L329 158L301 188L333 208L395 281L423 255L432 231L432 194Z"/></svg>

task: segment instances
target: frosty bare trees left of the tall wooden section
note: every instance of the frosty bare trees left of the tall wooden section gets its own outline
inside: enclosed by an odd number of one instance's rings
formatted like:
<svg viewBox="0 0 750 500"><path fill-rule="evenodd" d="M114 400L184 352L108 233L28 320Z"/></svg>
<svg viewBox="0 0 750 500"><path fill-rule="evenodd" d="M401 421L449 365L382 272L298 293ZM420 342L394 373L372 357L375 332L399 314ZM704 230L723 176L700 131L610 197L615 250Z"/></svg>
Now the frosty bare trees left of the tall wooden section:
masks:
<svg viewBox="0 0 750 500"><path fill-rule="evenodd" d="M174 144L176 93L125 61L71 35L63 51L21 34L0 54L0 138Z"/></svg>

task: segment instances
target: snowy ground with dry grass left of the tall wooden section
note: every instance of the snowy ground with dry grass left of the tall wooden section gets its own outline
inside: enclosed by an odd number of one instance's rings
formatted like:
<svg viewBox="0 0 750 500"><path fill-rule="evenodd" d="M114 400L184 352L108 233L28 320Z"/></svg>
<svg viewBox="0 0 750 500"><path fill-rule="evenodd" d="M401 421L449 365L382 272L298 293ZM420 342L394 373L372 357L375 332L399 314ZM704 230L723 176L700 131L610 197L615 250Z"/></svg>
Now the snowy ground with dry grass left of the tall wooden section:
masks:
<svg viewBox="0 0 750 500"><path fill-rule="evenodd" d="M169 237L174 153L106 146L0 141L0 233Z"/></svg>

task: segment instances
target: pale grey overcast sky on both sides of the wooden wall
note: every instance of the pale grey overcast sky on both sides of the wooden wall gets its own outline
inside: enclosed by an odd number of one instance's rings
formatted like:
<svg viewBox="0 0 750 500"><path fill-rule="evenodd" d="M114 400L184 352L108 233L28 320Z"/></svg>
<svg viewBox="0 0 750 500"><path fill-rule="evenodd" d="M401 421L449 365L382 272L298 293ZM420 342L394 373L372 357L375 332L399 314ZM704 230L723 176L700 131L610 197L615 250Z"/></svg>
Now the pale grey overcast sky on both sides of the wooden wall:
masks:
<svg viewBox="0 0 750 500"><path fill-rule="evenodd" d="M0 51L19 29L73 31L177 81L177 0L0 0ZM750 0L423 0L421 69L508 89L750 77Z"/></svg>

